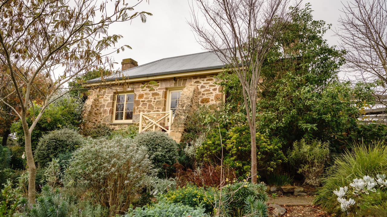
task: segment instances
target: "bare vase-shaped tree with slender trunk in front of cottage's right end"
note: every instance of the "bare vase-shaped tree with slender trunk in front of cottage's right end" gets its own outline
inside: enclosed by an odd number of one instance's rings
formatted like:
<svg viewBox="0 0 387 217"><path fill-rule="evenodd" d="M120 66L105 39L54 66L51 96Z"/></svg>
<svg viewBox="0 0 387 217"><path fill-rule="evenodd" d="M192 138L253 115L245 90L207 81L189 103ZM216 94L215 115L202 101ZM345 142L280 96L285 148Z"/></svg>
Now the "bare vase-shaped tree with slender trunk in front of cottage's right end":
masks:
<svg viewBox="0 0 387 217"><path fill-rule="evenodd" d="M261 68L289 20L289 0L196 0L190 25L198 42L239 78L251 134L251 175L257 183L256 106ZM200 14L200 15L199 15ZM201 22L204 17L204 22Z"/></svg>

